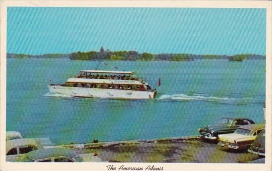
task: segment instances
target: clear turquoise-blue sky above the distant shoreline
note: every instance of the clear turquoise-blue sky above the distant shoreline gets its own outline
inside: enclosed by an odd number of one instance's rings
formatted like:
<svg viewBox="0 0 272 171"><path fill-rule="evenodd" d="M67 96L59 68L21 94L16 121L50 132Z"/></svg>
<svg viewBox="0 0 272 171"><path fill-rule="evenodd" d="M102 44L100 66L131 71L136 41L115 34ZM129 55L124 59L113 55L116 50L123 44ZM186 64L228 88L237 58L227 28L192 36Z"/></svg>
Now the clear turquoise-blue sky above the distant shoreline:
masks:
<svg viewBox="0 0 272 171"><path fill-rule="evenodd" d="M7 53L266 54L264 8L8 7Z"/></svg>

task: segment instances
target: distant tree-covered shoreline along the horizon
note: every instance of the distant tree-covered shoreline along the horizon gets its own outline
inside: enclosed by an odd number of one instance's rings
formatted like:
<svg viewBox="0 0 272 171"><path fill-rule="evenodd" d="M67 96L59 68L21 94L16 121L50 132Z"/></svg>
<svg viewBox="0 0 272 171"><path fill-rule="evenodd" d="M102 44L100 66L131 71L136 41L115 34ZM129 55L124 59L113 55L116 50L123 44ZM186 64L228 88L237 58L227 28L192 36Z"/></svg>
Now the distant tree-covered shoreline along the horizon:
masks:
<svg viewBox="0 0 272 171"><path fill-rule="evenodd" d="M71 60L138 60L138 61L193 61L199 59L226 59L229 61L242 60L266 60L266 56L255 54L238 54L234 56L227 55L194 55L194 54L138 54L136 51L117 51L117 52L77 52L71 54L6 54L7 58L70 58Z"/></svg>

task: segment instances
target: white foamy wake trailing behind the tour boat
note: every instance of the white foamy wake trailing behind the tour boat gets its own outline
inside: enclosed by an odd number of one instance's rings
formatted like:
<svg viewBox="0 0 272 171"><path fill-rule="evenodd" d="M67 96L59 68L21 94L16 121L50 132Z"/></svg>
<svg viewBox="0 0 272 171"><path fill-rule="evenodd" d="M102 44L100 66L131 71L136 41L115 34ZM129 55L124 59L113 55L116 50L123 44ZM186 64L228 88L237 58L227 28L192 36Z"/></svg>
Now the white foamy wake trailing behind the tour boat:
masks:
<svg viewBox="0 0 272 171"><path fill-rule="evenodd" d="M158 100L176 100L176 101L209 101L209 102L218 102L226 104L244 104L249 103L253 98L245 97L241 99L237 98L228 98L228 97L214 97L214 96L201 96L198 94L173 94L173 95L162 95Z"/></svg>

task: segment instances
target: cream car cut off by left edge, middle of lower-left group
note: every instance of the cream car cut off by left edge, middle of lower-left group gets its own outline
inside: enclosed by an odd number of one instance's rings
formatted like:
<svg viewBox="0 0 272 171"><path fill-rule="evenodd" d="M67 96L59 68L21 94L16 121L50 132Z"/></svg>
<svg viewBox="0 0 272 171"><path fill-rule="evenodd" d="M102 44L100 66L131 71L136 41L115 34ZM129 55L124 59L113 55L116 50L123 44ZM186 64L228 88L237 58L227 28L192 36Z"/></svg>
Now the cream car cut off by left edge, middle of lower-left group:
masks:
<svg viewBox="0 0 272 171"><path fill-rule="evenodd" d="M7 162L19 162L25 155L33 150L43 149L43 146L36 140L20 138L6 141L5 154Z"/></svg>

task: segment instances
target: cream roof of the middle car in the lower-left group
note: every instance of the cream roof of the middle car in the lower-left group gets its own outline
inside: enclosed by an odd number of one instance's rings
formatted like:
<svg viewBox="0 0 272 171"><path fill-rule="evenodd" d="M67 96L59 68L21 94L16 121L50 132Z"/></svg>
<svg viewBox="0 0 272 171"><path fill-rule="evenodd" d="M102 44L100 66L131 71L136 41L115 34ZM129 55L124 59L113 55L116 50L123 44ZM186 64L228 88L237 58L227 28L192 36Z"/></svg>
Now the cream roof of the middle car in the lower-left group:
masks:
<svg viewBox="0 0 272 171"><path fill-rule="evenodd" d="M6 141L5 149L6 149L6 151L9 151L10 149L12 149L14 147L25 146L25 145L35 145L35 146L41 147L41 145L38 144L38 142L34 139L20 138L20 139L13 139L13 140Z"/></svg>

